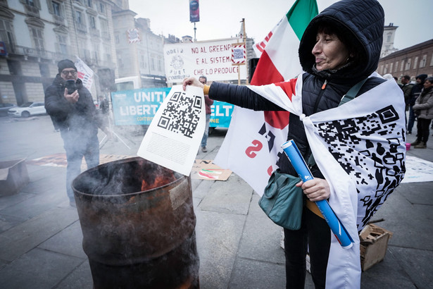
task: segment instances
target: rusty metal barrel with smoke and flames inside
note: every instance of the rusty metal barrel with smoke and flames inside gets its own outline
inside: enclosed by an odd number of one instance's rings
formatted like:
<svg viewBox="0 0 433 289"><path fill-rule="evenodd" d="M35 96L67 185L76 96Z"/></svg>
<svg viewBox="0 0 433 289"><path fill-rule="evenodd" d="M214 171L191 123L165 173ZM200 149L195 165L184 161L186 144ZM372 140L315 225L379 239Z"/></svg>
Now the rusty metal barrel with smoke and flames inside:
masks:
<svg viewBox="0 0 433 289"><path fill-rule="evenodd" d="M199 288L191 179L141 158L73 181L94 288Z"/></svg>

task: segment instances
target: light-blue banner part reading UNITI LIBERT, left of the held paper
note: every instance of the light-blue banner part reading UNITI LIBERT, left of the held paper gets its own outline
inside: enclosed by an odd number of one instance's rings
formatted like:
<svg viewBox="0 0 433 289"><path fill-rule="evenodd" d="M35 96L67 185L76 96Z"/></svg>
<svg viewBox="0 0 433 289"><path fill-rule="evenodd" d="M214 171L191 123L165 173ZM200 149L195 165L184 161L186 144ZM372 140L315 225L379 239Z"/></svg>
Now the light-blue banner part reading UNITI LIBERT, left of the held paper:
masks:
<svg viewBox="0 0 433 289"><path fill-rule="evenodd" d="M170 87L111 92L115 125L150 125Z"/></svg>

